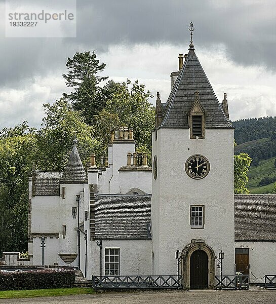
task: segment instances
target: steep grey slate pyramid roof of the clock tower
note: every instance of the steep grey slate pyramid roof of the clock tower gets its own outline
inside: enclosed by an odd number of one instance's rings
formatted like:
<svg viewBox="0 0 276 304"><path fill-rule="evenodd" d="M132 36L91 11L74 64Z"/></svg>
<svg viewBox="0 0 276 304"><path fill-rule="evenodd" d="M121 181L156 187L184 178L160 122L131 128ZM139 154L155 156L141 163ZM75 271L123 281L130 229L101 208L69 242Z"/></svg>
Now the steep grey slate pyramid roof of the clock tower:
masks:
<svg viewBox="0 0 276 304"><path fill-rule="evenodd" d="M205 111L206 129L233 128L194 53L193 45L190 45L188 57L169 95L160 128L189 128L188 114L195 100L195 91L199 91Z"/></svg>

